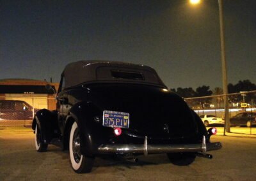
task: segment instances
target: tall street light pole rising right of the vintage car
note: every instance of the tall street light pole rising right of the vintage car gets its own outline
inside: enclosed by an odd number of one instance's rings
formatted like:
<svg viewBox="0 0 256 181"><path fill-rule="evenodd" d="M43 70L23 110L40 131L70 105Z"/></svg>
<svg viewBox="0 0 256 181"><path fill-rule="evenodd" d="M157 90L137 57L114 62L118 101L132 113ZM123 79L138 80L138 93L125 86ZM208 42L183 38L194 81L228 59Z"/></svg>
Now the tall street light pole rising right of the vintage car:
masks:
<svg viewBox="0 0 256 181"><path fill-rule="evenodd" d="M225 108L225 126L224 126L224 135L225 135L226 131L228 133L230 133L230 120L229 120L229 112L228 112L227 64L226 64L226 56L225 56L225 38L224 38L222 0L218 0L218 3L219 3L219 15L220 15L220 43L221 43L222 86L223 86L224 108Z"/></svg>

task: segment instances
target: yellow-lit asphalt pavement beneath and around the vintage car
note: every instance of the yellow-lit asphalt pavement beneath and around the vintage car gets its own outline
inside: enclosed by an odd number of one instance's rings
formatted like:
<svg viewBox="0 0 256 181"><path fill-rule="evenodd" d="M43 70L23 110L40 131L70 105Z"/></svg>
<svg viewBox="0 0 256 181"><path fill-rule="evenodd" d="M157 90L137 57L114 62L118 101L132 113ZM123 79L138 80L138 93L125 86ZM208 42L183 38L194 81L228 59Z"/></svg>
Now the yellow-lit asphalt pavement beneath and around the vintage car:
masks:
<svg viewBox="0 0 256 181"><path fill-rule="evenodd" d="M0 180L256 180L256 135L233 133L246 127L233 127L228 136L221 130L211 137L223 145L209 152L212 159L196 157L189 166L175 166L166 154L139 156L138 163L97 157L92 173L77 174L67 151L49 145L47 152L36 152L31 128L0 127Z"/></svg>

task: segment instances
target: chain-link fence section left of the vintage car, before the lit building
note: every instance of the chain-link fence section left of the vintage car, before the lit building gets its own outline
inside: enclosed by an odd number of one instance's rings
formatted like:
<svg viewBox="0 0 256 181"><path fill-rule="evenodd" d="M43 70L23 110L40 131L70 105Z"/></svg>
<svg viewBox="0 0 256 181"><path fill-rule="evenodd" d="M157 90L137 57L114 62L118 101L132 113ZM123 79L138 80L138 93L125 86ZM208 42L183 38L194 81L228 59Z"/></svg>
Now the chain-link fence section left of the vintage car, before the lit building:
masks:
<svg viewBox="0 0 256 181"><path fill-rule="evenodd" d="M42 108L54 107L55 99L47 96L0 96L0 126L26 126Z"/></svg>

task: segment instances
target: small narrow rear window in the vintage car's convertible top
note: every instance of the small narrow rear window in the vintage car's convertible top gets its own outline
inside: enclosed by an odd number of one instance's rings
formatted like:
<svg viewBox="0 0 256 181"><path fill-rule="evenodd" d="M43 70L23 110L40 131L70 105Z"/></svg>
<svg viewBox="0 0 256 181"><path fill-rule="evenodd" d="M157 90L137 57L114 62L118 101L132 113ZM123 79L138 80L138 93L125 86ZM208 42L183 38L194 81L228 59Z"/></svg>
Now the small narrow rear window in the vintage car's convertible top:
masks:
<svg viewBox="0 0 256 181"><path fill-rule="evenodd" d="M115 78L145 80L143 73L140 72L111 70L111 75Z"/></svg>

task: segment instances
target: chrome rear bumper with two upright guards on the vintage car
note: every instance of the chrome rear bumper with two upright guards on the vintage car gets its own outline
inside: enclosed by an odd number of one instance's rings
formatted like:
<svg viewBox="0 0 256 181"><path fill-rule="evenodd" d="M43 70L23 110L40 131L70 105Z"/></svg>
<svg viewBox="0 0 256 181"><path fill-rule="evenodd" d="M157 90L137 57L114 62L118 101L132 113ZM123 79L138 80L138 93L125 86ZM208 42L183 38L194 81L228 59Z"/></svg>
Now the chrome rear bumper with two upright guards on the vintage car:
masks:
<svg viewBox="0 0 256 181"><path fill-rule="evenodd" d="M157 154L171 152L201 152L206 154L207 151L218 150L222 147L220 142L205 143L205 136L202 143L198 144L177 144L177 145L148 145L147 136L145 136L144 144L113 144L100 145L99 153L119 153L119 154Z"/></svg>

